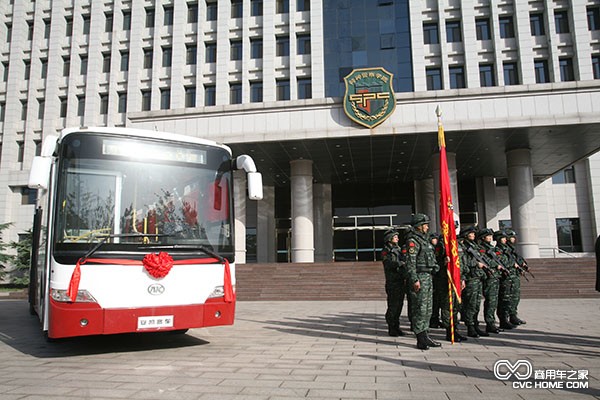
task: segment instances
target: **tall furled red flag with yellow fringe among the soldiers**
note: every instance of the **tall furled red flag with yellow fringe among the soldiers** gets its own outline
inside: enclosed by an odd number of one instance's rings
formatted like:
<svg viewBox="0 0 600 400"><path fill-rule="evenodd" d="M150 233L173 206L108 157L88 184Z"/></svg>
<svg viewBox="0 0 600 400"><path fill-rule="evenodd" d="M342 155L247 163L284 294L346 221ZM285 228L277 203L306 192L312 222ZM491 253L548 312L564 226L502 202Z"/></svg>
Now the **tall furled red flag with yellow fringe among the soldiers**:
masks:
<svg viewBox="0 0 600 400"><path fill-rule="evenodd" d="M450 173L446 158L446 139L441 120L438 121L438 143L440 147L440 220L444 246L448 257L448 277L452 289L456 293L458 302L461 302L460 259L458 257L458 242L456 240L456 227L454 225L454 207L452 205L452 191L450 189Z"/></svg>

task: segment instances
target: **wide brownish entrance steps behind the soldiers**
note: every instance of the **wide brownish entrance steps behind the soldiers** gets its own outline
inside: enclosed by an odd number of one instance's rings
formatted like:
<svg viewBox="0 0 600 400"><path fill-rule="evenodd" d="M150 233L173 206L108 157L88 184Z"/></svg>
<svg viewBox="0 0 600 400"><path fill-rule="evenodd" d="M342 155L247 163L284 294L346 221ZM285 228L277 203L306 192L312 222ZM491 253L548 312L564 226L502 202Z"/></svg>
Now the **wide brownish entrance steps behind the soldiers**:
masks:
<svg viewBox="0 0 600 400"><path fill-rule="evenodd" d="M521 278L522 298L600 298L595 258L528 260L535 279ZM385 300L381 262L238 264L240 301Z"/></svg>

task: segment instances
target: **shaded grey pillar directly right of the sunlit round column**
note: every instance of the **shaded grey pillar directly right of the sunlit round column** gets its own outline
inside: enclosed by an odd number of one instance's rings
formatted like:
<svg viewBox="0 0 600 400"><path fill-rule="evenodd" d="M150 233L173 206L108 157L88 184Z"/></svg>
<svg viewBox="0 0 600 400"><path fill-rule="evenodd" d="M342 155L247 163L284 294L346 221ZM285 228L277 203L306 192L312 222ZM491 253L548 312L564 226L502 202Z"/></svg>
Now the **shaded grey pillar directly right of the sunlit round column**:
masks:
<svg viewBox="0 0 600 400"><path fill-rule="evenodd" d="M331 184L313 185L315 216L315 261L333 261L333 207Z"/></svg>

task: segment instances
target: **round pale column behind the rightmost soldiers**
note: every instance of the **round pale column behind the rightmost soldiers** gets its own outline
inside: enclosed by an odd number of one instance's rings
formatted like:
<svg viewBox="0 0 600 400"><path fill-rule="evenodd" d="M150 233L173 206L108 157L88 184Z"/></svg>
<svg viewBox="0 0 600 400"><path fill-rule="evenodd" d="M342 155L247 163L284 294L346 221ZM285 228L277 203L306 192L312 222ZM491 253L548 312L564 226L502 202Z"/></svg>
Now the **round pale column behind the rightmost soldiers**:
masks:
<svg viewBox="0 0 600 400"><path fill-rule="evenodd" d="M510 218L517 232L519 252L525 258L538 258L540 246L535 222L535 194L529 149L506 152Z"/></svg>

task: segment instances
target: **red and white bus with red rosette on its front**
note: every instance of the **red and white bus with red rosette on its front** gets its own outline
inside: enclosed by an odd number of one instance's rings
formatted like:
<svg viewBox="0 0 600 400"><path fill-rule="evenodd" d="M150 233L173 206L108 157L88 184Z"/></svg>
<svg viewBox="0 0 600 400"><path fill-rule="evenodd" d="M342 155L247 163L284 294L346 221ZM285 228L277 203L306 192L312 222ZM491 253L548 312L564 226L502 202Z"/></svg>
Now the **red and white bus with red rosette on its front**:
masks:
<svg viewBox="0 0 600 400"><path fill-rule="evenodd" d="M252 158L128 128L72 128L34 158L30 310L49 339L231 325L233 170Z"/></svg>

